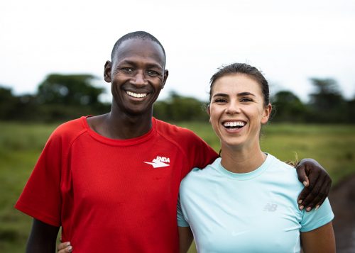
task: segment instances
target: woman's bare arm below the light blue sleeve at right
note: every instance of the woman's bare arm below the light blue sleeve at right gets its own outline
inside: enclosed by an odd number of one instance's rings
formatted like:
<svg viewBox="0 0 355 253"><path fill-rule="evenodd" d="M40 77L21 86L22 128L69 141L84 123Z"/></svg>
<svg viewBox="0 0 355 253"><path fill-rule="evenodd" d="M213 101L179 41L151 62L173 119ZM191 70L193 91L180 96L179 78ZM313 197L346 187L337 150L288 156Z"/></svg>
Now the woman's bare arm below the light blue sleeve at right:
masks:
<svg viewBox="0 0 355 253"><path fill-rule="evenodd" d="M332 222L309 232L301 232L304 253L335 253L335 237Z"/></svg>

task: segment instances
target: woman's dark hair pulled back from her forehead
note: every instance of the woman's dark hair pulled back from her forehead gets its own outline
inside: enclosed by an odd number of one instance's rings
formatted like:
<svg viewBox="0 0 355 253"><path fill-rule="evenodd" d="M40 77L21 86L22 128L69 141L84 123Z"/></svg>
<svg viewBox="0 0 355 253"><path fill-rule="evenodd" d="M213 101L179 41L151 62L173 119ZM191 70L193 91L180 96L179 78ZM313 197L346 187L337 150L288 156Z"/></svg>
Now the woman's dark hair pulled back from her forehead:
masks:
<svg viewBox="0 0 355 253"><path fill-rule="evenodd" d="M253 67L246 63L239 63L239 62L235 62L229 65L224 65L222 67L219 67L218 71L214 73L214 75L211 77L209 81L210 83L209 101L211 101L214 82L217 81L217 79L224 77L228 74L246 74L247 76L257 81L258 84L261 85L261 92L263 94L264 106L267 106L270 103L270 99L269 99L270 91L268 89L268 81L265 79L263 74L261 74L261 72L258 69L256 69L256 67Z"/></svg>

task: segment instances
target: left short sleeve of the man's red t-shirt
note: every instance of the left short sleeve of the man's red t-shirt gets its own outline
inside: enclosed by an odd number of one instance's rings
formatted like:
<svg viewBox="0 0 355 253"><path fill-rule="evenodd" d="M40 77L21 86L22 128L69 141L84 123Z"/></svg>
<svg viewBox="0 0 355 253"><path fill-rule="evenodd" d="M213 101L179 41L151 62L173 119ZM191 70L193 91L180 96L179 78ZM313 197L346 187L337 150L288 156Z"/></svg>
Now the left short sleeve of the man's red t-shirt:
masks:
<svg viewBox="0 0 355 253"><path fill-rule="evenodd" d="M44 223L59 227L62 206L60 171L62 165L60 136L54 133L40 154L15 208Z"/></svg>

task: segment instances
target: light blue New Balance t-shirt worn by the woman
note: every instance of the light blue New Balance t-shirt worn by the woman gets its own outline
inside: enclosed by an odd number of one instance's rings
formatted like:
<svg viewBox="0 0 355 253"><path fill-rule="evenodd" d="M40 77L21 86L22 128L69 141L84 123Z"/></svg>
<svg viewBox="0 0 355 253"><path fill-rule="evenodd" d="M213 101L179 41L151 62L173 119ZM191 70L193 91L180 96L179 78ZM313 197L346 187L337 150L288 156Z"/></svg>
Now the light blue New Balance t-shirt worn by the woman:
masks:
<svg viewBox="0 0 355 253"><path fill-rule="evenodd" d="M271 154L244 174L227 171L217 158L182 180L178 225L191 227L200 253L300 252L300 232L334 218L328 199L318 210L299 210L302 189L296 170Z"/></svg>

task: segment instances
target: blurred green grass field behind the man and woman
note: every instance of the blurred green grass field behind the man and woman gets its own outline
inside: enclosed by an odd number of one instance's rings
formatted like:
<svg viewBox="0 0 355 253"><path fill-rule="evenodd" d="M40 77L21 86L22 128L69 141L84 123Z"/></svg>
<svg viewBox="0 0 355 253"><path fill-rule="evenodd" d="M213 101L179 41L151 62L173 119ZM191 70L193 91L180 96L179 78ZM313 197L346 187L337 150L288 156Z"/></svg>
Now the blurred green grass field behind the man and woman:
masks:
<svg viewBox="0 0 355 253"><path fill-rule="evenodd" d="M194 130L219 150L219 142L209 124L177 125ZM31 219L13 205L55 126L0 122L0 252L24 252ZM294 159L295 152L300 158L315 158L332 176L333 186L355 173L355 125L271 124L263 132L263 151L282 160Z"/></svg>

